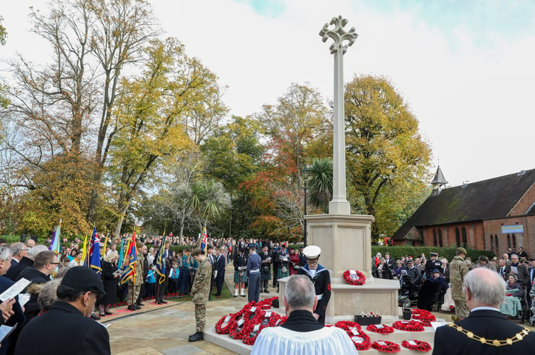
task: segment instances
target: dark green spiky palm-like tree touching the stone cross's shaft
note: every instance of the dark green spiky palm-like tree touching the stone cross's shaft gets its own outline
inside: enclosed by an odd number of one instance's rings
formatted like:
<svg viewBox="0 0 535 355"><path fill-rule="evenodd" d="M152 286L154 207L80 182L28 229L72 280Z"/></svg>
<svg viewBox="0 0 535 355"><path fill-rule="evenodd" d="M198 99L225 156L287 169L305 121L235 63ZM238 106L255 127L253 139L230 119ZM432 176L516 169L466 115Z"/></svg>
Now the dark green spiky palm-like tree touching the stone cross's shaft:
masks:
<svg viewBox="0 0 535 355"><path fill-rule="evenodd" d="M320 158L312 160L308 168L307 186L309 202L327 212L332 199L332 159Z"/></svg>

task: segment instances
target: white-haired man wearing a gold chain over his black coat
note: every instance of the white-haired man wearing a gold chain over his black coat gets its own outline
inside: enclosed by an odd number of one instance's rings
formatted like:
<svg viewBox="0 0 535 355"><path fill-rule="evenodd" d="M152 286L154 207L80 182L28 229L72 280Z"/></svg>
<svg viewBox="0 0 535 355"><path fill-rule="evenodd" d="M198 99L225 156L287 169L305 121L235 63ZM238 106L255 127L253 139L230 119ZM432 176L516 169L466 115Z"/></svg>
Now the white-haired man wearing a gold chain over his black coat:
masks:
<svg viewBox="0 0 535 355"><path fill-rule="evenodd" d="M433 355L535 354L535 333L509 322L499 305L505 282L488 268L475 268L464 278L470 315L465 320L438 327Z"/></svg>

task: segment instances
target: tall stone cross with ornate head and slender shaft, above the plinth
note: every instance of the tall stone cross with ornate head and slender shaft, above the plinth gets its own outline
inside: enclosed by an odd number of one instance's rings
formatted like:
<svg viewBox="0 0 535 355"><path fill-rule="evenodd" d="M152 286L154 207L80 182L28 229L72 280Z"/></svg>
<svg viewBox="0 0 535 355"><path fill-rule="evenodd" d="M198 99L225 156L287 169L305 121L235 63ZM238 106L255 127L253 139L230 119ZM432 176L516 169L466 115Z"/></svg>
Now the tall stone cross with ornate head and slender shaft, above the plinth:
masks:
<svg viewBox="0 0 535 355"><path fill-rule="evenodd" d="M329 214L351 214L346 199L346 138L344 125L344 53L357 38L355 28L344 31L347 19L333 17L325 23L319 35L325 42L330 37L334 43L329 47L334 54L334 138L333 138L333 183L332 200L329 202ZM329 29L329 25L334 28Z"/></svg>

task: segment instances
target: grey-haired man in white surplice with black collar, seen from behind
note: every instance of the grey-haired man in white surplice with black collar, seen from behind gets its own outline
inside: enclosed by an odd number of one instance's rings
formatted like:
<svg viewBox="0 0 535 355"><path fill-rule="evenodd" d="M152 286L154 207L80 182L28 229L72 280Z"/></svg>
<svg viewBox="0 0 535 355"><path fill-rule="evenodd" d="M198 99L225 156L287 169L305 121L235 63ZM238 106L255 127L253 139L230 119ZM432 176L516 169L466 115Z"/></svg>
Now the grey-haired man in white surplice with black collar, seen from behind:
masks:
<svg viewBox="0 0 535 355"><path fill-rule="evenodd" d="M282 297L287 320L258 334L251 355L357 354L347 334L337 327L324 327L312 315L317 305L312 281L292 275Z"/></svg>

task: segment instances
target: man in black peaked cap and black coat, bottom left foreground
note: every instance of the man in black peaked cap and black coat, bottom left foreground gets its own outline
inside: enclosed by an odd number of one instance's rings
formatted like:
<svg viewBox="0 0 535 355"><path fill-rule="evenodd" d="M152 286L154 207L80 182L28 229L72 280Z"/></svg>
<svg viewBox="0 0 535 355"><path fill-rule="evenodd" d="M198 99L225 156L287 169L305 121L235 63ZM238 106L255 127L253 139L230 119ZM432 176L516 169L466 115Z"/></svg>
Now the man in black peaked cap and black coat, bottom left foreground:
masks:
<svg viewBox="0 0 535 355"><path fill-rule="evenodd" d="M111 354L107 329L88 318L97 298L105 294L95 271L85 266L70 268L56 294L58 300L50 310L22 329L15 354Z"/></svg>

